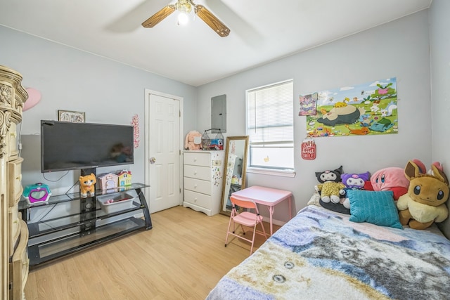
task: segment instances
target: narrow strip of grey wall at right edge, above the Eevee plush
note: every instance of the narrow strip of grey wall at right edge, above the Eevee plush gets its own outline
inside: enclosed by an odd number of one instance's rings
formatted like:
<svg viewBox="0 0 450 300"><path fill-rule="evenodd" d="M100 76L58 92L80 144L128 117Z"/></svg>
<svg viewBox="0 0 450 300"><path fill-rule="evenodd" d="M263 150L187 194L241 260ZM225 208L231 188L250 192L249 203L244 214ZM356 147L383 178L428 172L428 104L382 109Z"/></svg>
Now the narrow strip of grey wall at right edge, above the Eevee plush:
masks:
<svg viewBox="0 0 450 300"><path fill-rule="evenodd" d="M430 8L432 160L450 176L450 1L433 0ZM450 200L447 201L450 207ZM450 238L450 219L442 223Z"/></svg>

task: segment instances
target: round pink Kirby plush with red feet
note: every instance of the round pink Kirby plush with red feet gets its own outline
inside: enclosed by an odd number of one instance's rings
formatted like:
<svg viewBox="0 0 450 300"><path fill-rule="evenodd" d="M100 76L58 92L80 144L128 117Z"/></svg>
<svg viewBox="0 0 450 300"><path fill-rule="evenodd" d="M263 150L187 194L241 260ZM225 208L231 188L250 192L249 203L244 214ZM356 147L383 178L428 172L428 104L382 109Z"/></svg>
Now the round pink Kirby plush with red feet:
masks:
<svg viewBox="0 0 450 300"><path fill-rule="evenodd" d="M404 169L387 167L372 174L371 184L365 185L365 190L392 190L394 200L408 193L409 180L405 177Z"/></svg>

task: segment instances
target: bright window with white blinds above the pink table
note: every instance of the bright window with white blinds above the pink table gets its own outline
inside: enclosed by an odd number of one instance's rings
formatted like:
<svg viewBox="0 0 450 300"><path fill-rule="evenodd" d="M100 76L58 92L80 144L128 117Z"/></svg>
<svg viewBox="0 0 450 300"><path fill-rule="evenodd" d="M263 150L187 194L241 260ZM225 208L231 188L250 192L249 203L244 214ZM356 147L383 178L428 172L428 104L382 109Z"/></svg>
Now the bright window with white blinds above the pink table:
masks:
<svg viewBox="0 0 450 300"><path fill-rule="evenodd" d="M247 91L249 167L294 169L293 80Z"/></svg>

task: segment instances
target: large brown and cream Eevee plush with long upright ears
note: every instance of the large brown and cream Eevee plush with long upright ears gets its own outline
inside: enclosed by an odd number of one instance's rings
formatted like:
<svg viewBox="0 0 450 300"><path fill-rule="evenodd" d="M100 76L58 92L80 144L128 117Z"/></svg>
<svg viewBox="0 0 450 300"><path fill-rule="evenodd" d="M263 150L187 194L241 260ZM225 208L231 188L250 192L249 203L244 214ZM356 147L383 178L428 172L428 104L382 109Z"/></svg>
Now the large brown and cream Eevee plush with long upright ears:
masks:
<svg viewBox="0 0 450 300"><path fill-rule="evenodd" d="M401 225L425 229L449 216L444 204L449 199L449 181L439 167L440 164L432 164L432 174L423 174L414 162L406 164L404 174L409 179L409 189L397 201Z"/></svg>

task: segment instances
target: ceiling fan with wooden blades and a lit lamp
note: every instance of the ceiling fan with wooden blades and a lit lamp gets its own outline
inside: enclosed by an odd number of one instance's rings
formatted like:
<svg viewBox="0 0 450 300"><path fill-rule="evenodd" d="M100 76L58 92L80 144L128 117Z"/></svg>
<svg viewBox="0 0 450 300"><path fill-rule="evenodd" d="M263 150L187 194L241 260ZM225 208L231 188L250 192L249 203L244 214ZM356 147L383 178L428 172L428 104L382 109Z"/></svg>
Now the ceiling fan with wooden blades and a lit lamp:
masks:
<svg viewBox="0 0 450 300"><path fill-rule="evenodd" d="M158 13L155 13L150 18L142 23L143 27L152 28L159 22L167 18L174 11L180 11L181 13L190 13L194 8L195 15L198 15L208 26L211 27L214 32L221 37L226 37L230 33L229 27L226 27L215 15L205 8L203 5L194 4L192 0L178 0L176 4L169 4L162 8Z"/></svg>

